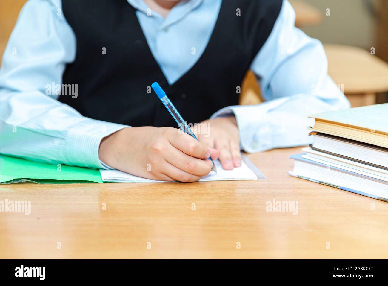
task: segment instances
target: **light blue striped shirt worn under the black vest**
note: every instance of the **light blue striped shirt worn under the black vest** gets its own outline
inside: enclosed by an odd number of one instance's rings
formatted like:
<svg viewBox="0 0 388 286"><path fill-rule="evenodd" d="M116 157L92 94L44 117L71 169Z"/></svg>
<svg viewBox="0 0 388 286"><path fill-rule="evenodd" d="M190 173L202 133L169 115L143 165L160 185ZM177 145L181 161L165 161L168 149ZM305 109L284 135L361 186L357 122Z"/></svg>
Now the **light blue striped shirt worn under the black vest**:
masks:
<svg viewBox="0 0 388 286"><path fill-rule="evenodd" d="M203 53L222 0L184 0L165 19L142 0L128 2L138 9L147 43L172 84ZM235 114L244 151L306 145L311 142L307 126L313 124L309 114L350 106L327 75L322 44L295 28L294 20L293 8L284 0L270 36L252 62L266 102L225 107L212 116ZM62 14L61 0L29 0L2 59L0 153L106 168L99 160L100 141L126 126L85 118L58 102L58 95L46 94L48 84L62 84L66 64L75 56L76 37Z"/></svg>

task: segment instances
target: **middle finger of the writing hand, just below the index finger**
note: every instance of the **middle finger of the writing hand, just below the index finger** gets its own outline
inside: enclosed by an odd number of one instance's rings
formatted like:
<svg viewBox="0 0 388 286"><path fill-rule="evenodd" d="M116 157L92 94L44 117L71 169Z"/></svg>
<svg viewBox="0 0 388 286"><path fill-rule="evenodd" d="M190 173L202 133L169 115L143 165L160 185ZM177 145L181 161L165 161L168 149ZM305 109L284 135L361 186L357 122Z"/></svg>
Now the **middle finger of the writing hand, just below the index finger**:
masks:
<svg viewBox="0 0 388 286"><path fill-rule="evenodd" d="M209 174L213 165L210 160L194 158L174 147L171 147L169 156L166 157L165 160L180 170L196 176L205 176Z"/></svg>

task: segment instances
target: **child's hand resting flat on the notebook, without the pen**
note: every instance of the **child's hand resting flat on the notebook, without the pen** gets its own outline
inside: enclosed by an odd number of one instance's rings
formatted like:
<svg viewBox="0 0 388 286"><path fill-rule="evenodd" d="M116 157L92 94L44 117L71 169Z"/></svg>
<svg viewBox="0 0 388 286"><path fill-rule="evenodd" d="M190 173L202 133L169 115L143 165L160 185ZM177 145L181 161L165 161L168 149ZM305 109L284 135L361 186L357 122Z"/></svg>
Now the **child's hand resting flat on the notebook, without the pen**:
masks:
<svg viewBox="0 0 388 286"><path fill-rule="evenodd" d="M241 166L240 134L234 116L202 121L192 131L199 142L220 151L222 167L231 170Z"/></svg>

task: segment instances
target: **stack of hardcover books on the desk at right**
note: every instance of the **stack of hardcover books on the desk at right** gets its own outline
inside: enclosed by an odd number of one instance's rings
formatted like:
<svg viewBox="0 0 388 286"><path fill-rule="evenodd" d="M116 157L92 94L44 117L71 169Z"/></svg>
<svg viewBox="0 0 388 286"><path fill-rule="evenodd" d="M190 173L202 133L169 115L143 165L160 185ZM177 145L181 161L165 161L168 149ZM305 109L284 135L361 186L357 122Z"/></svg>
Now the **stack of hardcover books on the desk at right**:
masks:
<svg viewBox="0 0 388 286"><path fill-rule="evenodd" d="M314 144L289 174L388 202L388 104L309 116Z"/></svg>

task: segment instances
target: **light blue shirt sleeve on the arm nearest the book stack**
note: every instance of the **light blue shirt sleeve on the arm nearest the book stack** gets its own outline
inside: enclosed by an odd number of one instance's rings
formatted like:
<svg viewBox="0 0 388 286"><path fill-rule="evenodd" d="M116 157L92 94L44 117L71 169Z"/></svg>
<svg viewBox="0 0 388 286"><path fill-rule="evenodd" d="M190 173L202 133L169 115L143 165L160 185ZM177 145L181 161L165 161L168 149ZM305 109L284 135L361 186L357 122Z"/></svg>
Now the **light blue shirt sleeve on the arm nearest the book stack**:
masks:
<svg viewBox="0 0 388 286"><path fill-rule="evenodd" d="M246 152L307 145L312 142L307 127L314 125L308 115L350 107L327 74L322 44L294 23L293 7L284 0L270 36L251 64L265 102L225 107L211 116L236 116Z"/></svg>

